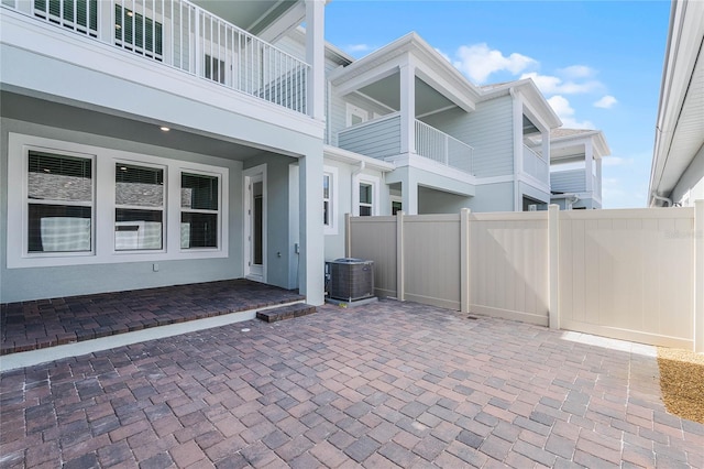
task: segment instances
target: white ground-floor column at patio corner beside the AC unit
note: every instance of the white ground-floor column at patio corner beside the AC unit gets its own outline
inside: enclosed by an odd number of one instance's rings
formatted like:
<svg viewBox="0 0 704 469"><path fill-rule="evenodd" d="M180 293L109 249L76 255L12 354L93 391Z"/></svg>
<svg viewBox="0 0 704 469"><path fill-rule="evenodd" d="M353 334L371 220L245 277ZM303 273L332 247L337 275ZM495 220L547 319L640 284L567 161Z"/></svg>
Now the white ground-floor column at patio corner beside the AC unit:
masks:
<svg viewBox="0 0 704 469"><path fill-rule="evenodd" d="M318 146L318 145L316 145ZM324 237L322 227L322 142L299 159L300 253L299 290L311 305L324 303Z"/></svg>

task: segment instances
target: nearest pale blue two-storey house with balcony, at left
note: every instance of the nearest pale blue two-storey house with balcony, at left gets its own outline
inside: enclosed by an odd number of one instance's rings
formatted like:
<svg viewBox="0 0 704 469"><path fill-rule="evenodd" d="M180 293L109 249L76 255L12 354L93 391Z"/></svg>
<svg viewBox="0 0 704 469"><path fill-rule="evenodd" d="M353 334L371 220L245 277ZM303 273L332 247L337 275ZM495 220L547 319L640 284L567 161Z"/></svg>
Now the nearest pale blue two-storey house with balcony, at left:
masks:
<svg viewBox="0 0 704 469"><path fill-rule="evenodd" d="M0 4L0 302L246 276L322 303L323 1ZM301 57L272 45L304 21Z"/></svg>

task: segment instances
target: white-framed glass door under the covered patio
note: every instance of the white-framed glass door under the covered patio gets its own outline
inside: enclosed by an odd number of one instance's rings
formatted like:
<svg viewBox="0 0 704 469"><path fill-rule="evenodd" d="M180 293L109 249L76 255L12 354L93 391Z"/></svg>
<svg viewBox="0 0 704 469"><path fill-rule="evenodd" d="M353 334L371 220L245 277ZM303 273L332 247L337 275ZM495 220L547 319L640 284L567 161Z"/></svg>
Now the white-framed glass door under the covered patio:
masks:
<svg viewBox="0 0 704 469"><path fill-rule="evenodd" d="M264 171L245 172L245 276L266 282L266 182Z"/></svg>

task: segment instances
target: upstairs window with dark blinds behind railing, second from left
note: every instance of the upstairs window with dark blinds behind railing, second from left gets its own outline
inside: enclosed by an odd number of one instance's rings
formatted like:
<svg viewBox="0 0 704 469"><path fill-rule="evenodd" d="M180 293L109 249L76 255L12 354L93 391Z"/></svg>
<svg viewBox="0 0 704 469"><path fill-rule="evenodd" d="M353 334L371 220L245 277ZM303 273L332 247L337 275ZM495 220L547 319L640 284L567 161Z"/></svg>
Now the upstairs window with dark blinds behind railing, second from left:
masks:
<svg viewBox="0 0 704 469"><path fill-rule="evenodd" d="M117 45L128 51L162 61L162 23L120 4L114 6L114 40Z"/></svg>

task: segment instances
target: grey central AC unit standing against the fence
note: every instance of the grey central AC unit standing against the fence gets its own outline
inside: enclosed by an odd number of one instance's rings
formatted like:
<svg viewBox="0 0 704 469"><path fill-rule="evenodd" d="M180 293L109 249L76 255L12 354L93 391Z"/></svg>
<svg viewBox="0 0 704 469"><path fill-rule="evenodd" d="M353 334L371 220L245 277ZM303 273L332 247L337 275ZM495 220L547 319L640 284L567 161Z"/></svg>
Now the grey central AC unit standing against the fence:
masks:
<svg viewBox="0 0 704 469"><path fill-rule="evenodd" d="M328 264L331 298L352 302L374 296L374 261L344 258Z"/></svg>

